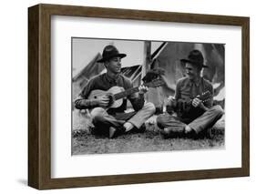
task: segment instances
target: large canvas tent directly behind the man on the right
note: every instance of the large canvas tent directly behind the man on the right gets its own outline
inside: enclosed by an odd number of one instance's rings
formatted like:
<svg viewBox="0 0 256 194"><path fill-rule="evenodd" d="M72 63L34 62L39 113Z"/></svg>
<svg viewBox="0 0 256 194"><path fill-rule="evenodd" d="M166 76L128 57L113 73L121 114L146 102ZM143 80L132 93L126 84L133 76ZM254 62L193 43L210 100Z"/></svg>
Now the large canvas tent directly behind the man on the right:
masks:
<svg viewBox="0 0 256 194"><path fill-rule="evenodd" d="M177 80L186 76L185 65L180 63L180 59L188 56L192 49L202 51L205 63L209 66L209 68L203 69L202 76L210 80L215 88L215 103L224 106L224 45L216 44L167 43L159 54L152 58L149 67L165 69L163 79L166 85L157 89L150 89L148 101L155 105L162 105L169 95L174 95Z"/></svg>

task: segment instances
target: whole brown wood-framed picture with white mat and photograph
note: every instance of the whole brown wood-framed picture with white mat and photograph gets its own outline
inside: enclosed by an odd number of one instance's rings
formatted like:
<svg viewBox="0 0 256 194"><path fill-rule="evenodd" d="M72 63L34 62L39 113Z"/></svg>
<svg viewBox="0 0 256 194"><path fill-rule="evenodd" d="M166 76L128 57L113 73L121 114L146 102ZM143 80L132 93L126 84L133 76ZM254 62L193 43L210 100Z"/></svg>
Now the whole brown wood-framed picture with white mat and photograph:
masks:
<svg viewBox="0 0 256 194"><path fill-rule="evenodd" d="M28 32L30 187L250 176L249 17L39 4Z"/></svg>

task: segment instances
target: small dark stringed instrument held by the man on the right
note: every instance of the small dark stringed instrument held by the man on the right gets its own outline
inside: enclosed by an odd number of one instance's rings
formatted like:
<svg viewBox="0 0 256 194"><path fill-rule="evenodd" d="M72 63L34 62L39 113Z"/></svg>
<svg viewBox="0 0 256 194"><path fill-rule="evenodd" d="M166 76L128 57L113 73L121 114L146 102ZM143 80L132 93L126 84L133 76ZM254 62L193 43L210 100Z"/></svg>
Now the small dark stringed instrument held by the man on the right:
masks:
<svg viewBox="0 0 256 194"><path fill-rule="evenodd" d="M210 101L211 99L210 91L207 90L203 92L201 95L197 96L197 98L199 98L202 103ZM192 101L193 101L193 98L174 100L174 102L170 106L167 106L167 111L168 112L174 111L178 115L182 114L182 112L189 112L189 110L193 108Z"/></svg>

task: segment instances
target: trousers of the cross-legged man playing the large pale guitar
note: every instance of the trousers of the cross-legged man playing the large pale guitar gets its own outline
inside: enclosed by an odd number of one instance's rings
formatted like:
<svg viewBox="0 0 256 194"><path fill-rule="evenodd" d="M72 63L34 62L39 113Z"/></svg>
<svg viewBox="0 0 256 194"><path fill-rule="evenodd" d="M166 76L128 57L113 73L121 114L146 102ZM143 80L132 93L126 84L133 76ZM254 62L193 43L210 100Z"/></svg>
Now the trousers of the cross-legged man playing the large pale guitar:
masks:
<svg viewBox="0 0 256 194"><path fill-rule="evenodd" d="M133 111L129 113L116 113L109 115L106 109L102 107L95 107L91 111L92 123L95 126L97 134L108 134L110 127L121 127L124 123L132 123L136 128L140 128L149 117L156 111L153 103L146 102L138 112Z"/></svg>

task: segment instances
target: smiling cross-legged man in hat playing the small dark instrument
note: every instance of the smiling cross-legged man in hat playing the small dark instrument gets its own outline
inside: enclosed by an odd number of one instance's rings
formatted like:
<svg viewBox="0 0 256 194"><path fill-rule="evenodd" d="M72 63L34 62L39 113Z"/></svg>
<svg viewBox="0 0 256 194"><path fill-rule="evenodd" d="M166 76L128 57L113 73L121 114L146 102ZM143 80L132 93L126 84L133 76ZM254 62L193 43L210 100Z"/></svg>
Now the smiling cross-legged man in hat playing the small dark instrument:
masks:
<svg viewBox="0 0 256 194"><path fill-rule="evenodd" d="M210 82L200 77L204 58L199 50L192 50L185 63L187 77L178 80L175 97L169 97L167 110L169 114L157 117L164 138L189 137L198 138L209 130L224 114L220 106L213 106L213 87ZM202 99L203 94L209 94ZM174 114L172 114L174 113Z"/></svg>

